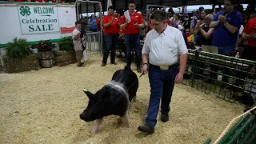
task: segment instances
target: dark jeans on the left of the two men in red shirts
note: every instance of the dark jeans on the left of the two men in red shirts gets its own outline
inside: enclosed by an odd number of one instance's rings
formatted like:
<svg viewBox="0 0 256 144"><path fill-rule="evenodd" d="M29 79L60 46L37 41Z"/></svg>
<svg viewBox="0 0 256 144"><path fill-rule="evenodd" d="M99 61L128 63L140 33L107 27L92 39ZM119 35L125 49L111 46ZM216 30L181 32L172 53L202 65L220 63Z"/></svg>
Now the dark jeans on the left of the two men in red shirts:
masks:
<svg viewBox="0 0 256 144"><path fill-rule="evenodd" d="M118 46L118 34L104 34L105 50L103 54L102 63L106 64L107 58L109 57L110 50L110 62L115 61L115 52Z"/></svg>

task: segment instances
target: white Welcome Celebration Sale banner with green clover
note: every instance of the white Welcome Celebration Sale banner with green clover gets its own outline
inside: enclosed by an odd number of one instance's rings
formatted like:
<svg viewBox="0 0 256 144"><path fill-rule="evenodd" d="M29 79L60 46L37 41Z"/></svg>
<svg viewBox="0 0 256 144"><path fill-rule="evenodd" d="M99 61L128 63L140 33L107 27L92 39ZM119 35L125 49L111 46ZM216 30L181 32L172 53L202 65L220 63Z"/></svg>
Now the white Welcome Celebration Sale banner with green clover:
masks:
<svg viewBox="0 0 256 144"><path fill-rule="evenodd" d="M57 6L18 6L23 34L48 34L60 31Z"/></svg>

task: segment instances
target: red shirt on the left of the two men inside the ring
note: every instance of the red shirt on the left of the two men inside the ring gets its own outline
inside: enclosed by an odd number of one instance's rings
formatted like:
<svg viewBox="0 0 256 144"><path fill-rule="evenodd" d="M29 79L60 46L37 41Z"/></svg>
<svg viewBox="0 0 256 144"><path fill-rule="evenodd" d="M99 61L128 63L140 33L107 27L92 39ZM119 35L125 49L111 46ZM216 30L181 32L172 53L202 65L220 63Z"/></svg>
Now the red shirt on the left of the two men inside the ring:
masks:
<svg viewBox="0 0 256 144"><path fill-rule="evenodd" d="M103 18L103 25L106 23L109 23L112 21L112 18L110 15L106 15ZM119 27L118 27L118 16L114 15L114 21L109 27L104 27L104 34L118 34L119 33Z"/></svg>

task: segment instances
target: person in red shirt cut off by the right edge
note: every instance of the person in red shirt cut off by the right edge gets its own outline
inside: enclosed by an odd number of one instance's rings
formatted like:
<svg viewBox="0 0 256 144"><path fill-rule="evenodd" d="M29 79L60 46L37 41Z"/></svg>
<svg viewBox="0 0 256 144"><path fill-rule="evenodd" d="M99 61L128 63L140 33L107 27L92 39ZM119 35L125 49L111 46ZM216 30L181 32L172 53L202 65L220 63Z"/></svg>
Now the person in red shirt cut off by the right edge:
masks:
<svg viewBox="0 0 256 144"><path fill-rule="evenodd" d="M246 48L242 52L242 58L256 61L256 18L251 18L246 23L242 37L247 39Z"/></svg>

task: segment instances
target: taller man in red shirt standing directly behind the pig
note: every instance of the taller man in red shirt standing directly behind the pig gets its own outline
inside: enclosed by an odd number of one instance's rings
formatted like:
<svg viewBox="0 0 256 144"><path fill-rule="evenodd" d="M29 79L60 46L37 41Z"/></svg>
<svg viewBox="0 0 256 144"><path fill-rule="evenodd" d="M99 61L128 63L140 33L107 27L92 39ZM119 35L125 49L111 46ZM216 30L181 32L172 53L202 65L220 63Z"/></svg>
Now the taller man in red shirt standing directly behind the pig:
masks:
<svg viewBox="0 0 256 144"><path fill-rule="evenodd" d="M130 69L131 65L131 50L132 45L134 45L135 55L136 55L136 64L137 71L141 73L141 51L140 51L140 29L144 27L144 20L142 14L138 14L135 11L135 2L130 1L129 3L129 14L131 22L128 22L128 19L125 15L120 18L120 28L124 29L125 41L126 41L126 63L127 69Z"/></svg>

